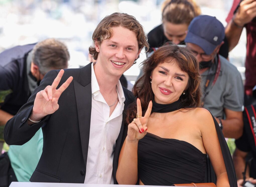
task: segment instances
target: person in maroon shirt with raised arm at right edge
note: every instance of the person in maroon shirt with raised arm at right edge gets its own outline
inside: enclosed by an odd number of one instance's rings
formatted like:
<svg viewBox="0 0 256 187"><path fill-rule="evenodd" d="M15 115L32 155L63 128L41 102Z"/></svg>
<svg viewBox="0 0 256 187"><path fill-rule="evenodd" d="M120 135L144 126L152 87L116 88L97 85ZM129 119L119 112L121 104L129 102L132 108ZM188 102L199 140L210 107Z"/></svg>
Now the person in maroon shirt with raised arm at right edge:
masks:
<svg viewBox="0 0 256 187"><path fill-rule="evenodd" d="M252 88L256 85L256 1L234 0L226 18L228 23L225 34L231 51L238 43L243 27L247 33L247 53L245 62L245 106L251 104ZM249 103L247 103L249 102Z"/></svg>

